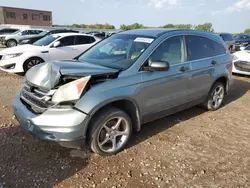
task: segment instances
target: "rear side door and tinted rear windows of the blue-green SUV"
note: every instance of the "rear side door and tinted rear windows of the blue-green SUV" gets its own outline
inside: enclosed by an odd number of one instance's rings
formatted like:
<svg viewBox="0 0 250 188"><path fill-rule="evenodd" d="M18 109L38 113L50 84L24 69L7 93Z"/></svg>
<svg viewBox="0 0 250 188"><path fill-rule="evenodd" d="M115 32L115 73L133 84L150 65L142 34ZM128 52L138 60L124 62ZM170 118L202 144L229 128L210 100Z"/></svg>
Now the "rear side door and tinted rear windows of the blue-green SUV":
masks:
<svg viewBox="0 0 250 188"><path fill-rule="evenodd" d="M191 63L191 100L205 98L213 84L216 68L226 49L214 40L201 36L187 36L187 54Z"/></svg>

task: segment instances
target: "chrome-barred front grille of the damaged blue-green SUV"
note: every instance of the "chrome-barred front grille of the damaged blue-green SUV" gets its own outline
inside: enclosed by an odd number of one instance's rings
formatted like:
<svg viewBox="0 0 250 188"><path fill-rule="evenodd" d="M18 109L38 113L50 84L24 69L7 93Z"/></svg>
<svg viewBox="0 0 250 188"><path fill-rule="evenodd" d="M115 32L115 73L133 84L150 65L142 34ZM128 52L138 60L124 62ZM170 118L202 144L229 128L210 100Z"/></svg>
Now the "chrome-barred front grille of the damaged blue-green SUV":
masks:
<svg viewBox="0 0 250 188"><path fill-rule="evenodd" d="M41 90L37 87L31 86L27 82L21 90L21 100L34 113L40 114L45 112L48 108L55 104L50 102L51 96L48 91Z"/></svg>

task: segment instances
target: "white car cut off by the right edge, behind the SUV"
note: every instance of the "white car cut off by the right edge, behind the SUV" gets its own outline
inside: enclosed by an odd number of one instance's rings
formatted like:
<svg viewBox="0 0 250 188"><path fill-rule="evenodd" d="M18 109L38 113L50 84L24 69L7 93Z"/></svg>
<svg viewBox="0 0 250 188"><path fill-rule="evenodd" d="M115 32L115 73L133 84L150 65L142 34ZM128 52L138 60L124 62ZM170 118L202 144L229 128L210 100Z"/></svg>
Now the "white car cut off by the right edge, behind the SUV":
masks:
<svg viewBox="0 0 250 188"><path fill-rule="evenodd" d="M250 76L250 45L233 54L233 73Z"/></svg>

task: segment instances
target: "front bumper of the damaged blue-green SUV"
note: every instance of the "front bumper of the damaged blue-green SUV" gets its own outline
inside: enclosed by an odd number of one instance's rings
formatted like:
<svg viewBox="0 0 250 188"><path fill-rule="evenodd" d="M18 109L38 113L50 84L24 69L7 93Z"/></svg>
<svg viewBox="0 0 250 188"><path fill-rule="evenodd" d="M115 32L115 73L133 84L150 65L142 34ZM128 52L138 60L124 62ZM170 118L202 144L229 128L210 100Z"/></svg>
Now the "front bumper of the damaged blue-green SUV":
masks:
<svg viewBox="0 0 250 188"><path fill-rule="evenodd" d="M56 141L69 148L85 145L88 115L76 109L48 109L32 113L18 95L13 102L14 115L20 126L42 140Z"/></svg>

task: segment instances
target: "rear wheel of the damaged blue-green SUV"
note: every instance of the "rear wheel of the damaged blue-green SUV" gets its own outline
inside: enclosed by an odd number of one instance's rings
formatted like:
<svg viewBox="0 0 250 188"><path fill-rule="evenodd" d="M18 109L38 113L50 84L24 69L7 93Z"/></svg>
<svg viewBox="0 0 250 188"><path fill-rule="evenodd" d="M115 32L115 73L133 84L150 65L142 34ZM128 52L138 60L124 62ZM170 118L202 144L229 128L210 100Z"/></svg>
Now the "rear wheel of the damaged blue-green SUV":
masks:
<svg viewBox="0 0 250 188"><path fill-rule="evenodd" d="M204 107L207 110L218 110L225 97L225 85L221 82L216 82L209 92L207 100L204 102Z"/></svg>

